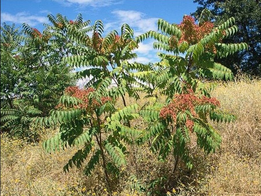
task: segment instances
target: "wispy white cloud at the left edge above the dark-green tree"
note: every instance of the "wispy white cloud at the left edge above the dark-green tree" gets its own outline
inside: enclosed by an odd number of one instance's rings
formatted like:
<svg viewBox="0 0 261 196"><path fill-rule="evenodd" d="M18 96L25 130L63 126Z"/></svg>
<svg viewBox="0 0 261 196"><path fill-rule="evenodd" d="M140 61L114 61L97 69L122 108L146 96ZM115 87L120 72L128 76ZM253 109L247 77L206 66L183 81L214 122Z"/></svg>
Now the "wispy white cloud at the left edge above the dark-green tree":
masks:
<svg viewBox="0 0 261 196"><path fill-rule="evenodd" d="M39 23L47 23L48 19L42 16L30 15L26 12L18 12L15 15L1 12L1 22L12 22L16 24L27 23L30 26L35 26Z"/></svg>

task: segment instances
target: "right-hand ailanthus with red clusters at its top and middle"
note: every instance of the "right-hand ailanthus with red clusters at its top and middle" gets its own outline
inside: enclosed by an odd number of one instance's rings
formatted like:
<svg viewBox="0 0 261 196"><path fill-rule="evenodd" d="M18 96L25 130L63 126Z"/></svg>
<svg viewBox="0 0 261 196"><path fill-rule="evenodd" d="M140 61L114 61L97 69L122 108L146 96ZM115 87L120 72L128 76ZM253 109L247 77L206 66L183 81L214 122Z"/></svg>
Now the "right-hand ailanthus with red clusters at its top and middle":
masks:
<svg viewBox="0 0 261 196"><path fill-rule="evenodd" d="M197 145L208 154L220 146L221 136L209 123L235 120L233 114L220 110L217 99L211 98L214 85L207 80L232 80L232 72L216 63L214 58L247 49L247 44L224 44L222 39L238 30L232 17L214 27L209 21L209 10L204 10L198 24L191 16L184 15L180 24L158 20L160 32L148 31L136 38L137 43L154 38L154 48L167 51L159 53L161 59L151 69L150 77L143 77L148 96L166 96L165 103L157 99L153 105L140 110L147 123L146 130L138 138L142 144L153 139L151 150L164 161L169 154L175 157L173 172L181 159L191 170L193 160L189 152L190 135L197 136ZM184 54L184 57L180 54Z"/></svg>

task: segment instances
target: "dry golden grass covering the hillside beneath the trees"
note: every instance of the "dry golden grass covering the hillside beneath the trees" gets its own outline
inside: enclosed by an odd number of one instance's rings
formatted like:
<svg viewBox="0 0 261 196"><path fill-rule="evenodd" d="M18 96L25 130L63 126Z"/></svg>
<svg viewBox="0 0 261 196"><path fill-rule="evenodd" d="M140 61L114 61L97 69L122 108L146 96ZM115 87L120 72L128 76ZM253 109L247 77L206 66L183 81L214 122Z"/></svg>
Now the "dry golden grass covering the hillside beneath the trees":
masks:
<svg viewBox="0 0 261 196"><path fill-rule="evenodd" d="M236 114L231 124L213 125L222 135L221 149L208 157L192 144L195 169L188 173L182 164L171 183L172 195L261 195L261 81L239 80L219 84L213 92L223 109ZM149 100L142 99L140 102ZM135 100L127 99L128 103ZM121 105L121 103L118 103ZM142 123L134 122L142 127ZM91 178L81 170L64 174L62 168L76 149L54 155L45 154L41 142L55 130L42 130L39 144L1 135L1 195L108 195L102 168ZM147 146L137 149L142 181L160 177L173 167L170 158L161 163ZM129 188L128 176L134 173L133 153L128 166L121 168L120 186L112 195L139 195Z"/></svg>

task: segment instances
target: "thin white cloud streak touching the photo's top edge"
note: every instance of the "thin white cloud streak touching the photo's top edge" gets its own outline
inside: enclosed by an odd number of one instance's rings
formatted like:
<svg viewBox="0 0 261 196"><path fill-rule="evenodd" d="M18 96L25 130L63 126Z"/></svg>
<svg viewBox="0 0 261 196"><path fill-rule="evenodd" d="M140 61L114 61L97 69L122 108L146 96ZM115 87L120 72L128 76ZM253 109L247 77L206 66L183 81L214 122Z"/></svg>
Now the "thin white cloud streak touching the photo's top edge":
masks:
<svg viewBox="0 0 261 196"><path fill-rule="evenodd" d="M115 0L53 0L64 6L71 6L73 4L86 5L92 7L104 7L115 3Z"/></svg>

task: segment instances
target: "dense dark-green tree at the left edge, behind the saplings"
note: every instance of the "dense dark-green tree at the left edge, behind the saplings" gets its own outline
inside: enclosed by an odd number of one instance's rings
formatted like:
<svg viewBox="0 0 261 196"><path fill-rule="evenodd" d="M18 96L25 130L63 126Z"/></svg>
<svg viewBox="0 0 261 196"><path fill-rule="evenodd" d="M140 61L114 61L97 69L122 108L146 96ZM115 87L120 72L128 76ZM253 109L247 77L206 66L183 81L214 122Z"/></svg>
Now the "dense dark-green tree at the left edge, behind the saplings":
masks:
<svg viewBox="0 0 261 196"><path fill-rule="evenodd" d="M30 121L19 123L22 114L27 114L28 119L46 116L57 105L64 89L75 84L72 67L61 64L61 58L70 50L66 50L66 46L60 49L60 43L64 42L57 37L60 37L57 30L51 31L50 27L40 33L26 24L23 30L14 24L1 26L1 110L4 111L1 115L13 115L1 118L2 131L21 134L23 127L28 132L26 123ZM34 114L26 111L32 107L39 111ZM21 108L24 112L14 112ZM14 118L20 120L14 121Z"/></svg>

